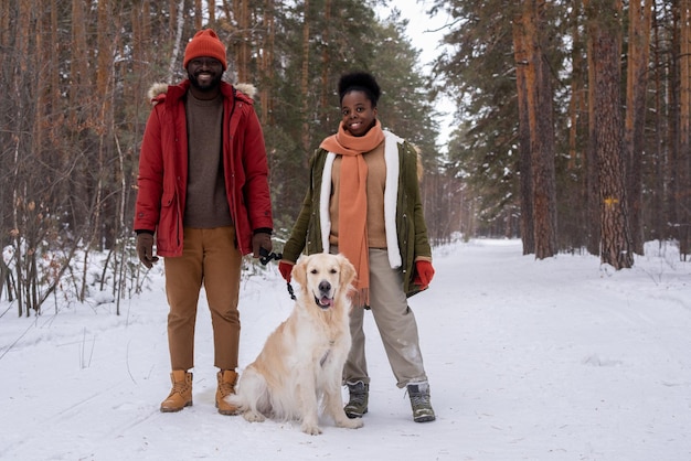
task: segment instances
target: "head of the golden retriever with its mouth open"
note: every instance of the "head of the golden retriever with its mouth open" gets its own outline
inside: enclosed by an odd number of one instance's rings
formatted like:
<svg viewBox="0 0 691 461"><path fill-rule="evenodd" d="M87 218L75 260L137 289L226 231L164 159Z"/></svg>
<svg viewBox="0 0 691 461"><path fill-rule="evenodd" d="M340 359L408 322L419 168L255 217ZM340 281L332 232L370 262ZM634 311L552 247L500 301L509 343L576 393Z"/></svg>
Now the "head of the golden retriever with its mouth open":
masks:
<svg viewBox="0 0 691 461"><path fill-rule="evenodd" d="M313 298L321 309L329 309L350 290L355 268L343 255L318 253L301 257L293 268L293 278L306 302Z"/></svg>

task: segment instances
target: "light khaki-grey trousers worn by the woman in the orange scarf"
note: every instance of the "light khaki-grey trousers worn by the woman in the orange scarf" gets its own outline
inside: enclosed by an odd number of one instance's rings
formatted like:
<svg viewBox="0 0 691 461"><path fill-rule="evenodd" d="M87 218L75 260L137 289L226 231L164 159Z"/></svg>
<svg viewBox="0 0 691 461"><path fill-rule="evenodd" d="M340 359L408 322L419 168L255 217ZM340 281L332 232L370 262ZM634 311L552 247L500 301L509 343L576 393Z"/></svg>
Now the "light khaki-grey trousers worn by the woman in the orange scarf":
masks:
<svg viewBox="0 0 691 461"><path fill-rule="evenodd" d="M385 249L370 249L370 305L396 386L427 380L417 322L403 292L403 275L400 269L391 268ZM343 367L344 382L370 382L362 329L364 313L361 307L353 307L350 313L353 343Z"/></svg>

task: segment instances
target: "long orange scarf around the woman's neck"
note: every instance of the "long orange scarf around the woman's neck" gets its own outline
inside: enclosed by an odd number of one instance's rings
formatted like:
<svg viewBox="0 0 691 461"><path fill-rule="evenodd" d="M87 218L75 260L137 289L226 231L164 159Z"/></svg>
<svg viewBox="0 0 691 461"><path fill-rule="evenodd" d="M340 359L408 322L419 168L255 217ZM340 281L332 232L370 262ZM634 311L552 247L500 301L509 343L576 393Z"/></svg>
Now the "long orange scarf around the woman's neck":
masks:
<svg viewBox="0 0 691 461"><path fill-rule="evenodd" d="M321 141L321 148L342 157L339 191L338 249L355 267L355 305L370 303L370 260L368 246L368 164L362 154L384 141L379 120L364 136L352 136L339 125L338 132ZM322 181L329 181L328 178Z"/></svg>

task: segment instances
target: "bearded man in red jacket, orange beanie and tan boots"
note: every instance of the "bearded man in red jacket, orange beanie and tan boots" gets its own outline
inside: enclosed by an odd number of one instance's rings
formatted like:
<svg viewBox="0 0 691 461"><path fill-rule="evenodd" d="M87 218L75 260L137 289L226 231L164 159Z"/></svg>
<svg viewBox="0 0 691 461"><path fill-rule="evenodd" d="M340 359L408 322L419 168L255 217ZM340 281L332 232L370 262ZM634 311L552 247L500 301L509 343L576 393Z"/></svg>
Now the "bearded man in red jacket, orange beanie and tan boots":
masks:
<svg viewBox="0 0 691 461"><path fill-rule="evenodd" d="M272 251L268 165L254 89L246 95L222 81L225 46L213 30L189 42L183 66L188 79L159 86L158 95L150 92L153 109L139 158L137 254L148 268L164 258L172 390L161 411L192 405L194 321L203 285L220 369L216 407L233 415L236 408L224 397L237 380L242 257Z"/></svg>

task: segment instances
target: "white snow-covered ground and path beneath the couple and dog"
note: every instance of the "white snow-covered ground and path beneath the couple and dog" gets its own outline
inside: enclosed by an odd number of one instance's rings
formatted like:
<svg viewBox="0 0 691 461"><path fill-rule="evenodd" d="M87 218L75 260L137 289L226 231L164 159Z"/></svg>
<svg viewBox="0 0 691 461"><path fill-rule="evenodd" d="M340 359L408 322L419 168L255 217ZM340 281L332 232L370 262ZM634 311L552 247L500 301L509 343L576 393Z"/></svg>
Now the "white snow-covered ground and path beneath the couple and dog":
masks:
<svg viewBox="0 0 691 461"><path fill-rule="evenodd" d="M0 459L691 460L691 262L673 246L648 244L614 271L593 256L535 260L518 240L471 240L436 248L434 265L432 288L410 301L434 422L412 421L371 314L362 429L325 418L307 436L219 415L203 296L194 406L161 414L159 264L119 317L105 303L18 319L0 303ZM290 309L275 264L245 278L241 367Z"/></svg>

